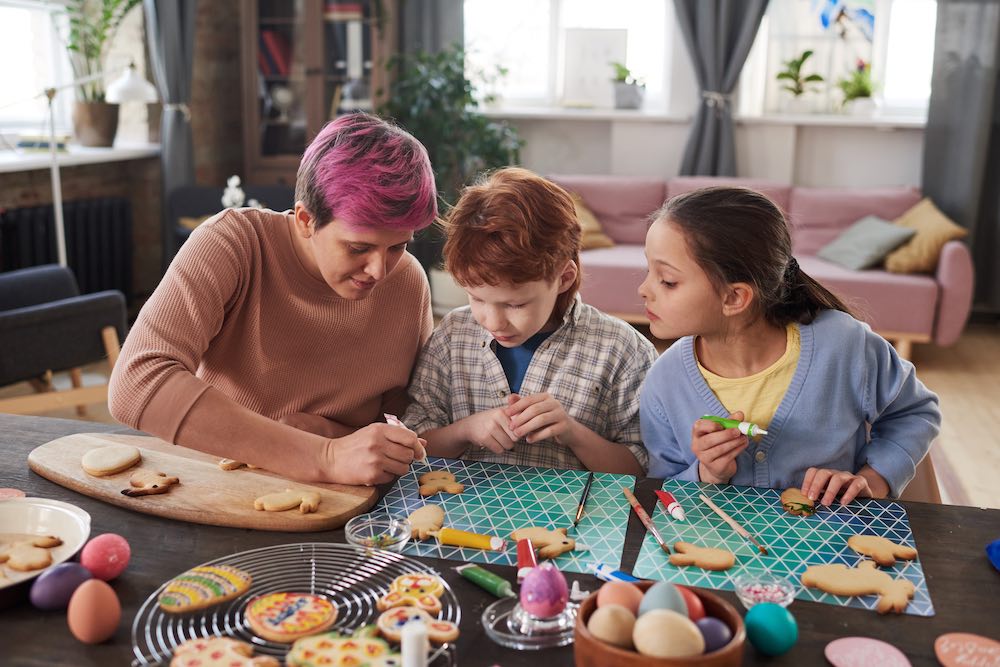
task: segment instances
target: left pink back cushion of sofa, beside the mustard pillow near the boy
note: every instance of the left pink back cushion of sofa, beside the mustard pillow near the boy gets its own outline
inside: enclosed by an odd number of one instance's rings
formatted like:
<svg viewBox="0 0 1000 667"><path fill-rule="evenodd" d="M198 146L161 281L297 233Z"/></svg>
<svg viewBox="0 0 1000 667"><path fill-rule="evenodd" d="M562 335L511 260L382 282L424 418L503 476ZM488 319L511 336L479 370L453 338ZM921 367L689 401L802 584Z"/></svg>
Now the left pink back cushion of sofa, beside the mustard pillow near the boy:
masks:
<svg viewBox="0 0 1000 667"><path fill-rule="evenodd" d="M662 180L633 176L562 176L549 179L583 199L615 243L646 242L649 214L666 198Z"/></svg>

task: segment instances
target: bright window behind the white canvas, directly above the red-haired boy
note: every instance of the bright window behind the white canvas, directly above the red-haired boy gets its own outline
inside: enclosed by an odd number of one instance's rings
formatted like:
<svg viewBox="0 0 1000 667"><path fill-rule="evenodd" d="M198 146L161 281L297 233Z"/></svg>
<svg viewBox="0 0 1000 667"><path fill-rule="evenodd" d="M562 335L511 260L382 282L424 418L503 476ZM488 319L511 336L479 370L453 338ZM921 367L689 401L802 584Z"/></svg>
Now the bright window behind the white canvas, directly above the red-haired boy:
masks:
<svg viewBox="0 0 1000 667"><path fill-rule="evenodd" d="M665 0L465 0L470 79L507 105L561 106L577 102L566 96L574 85L567 84L568 72L607 81L610 100L611 66L594 60L593 71L574 72L566 54L579 53L577 37L593 34L574 31L618 30L625 37L625 65L646 84L645 107L663 108L666 36L673 34L666 5ZM493 76L497 67L505 68L506 76Z"/></svg>

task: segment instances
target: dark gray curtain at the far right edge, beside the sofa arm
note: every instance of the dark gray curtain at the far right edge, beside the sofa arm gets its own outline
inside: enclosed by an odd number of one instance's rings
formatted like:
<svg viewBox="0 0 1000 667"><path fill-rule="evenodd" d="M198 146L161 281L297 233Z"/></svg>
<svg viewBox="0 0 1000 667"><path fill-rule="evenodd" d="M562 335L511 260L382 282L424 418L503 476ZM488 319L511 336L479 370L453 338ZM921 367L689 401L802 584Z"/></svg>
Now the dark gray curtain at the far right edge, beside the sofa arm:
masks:
<svg viewBox="0 0 1000 667"><path fill-rule="evenodd" d="M973 307L1000 314L1000 0L938 0L924 194L968 228Z"/></svg>

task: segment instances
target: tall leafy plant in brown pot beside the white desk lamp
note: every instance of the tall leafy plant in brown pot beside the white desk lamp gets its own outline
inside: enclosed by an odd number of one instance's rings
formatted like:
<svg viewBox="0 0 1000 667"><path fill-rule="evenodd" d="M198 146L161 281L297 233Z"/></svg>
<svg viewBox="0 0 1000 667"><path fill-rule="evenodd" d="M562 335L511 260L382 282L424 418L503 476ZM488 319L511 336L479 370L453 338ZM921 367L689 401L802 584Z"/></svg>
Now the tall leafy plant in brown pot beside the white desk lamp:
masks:
<svg viewBox="0 0 1000 667"><path fill-rule="evenodd" d="M112 38L142 0L68 0L66 51L76 87L73 131L84 146L110 146L118 129L118 105L104 100L105 59ZM92 80L91 80L92 79Z"/></svg>

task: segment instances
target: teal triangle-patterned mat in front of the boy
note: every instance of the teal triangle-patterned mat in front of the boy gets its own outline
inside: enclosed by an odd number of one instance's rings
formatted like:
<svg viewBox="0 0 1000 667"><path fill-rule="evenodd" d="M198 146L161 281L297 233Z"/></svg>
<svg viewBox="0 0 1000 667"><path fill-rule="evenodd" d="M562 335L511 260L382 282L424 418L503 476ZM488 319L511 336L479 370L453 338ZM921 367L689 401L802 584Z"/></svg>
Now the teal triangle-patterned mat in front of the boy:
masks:
<svg viewBox="0 0 1000 667"><path fill-rule="evenodd" d="M588 547L555 558L553 563L564 572L588 572L592 562L617 568L621 564L628 526L628 501L622 487L632 489L635 477L594 473L583 518L576 529L573 517L587 482L585 470L528 468L500 463L462 461L431 457L429 465L414 464L399 478L373 513L388 512L406 517L425 504L440 505L445 512L444 525L507 540L504 551L483 551L441 546L434 538L409 541L403 553L463 562L517 565L516 544L510 534L517 528L569 528L569 536ZM417 479L430 470L448 470L465 485L458 494L439 493L422 498Z"/></svg>

